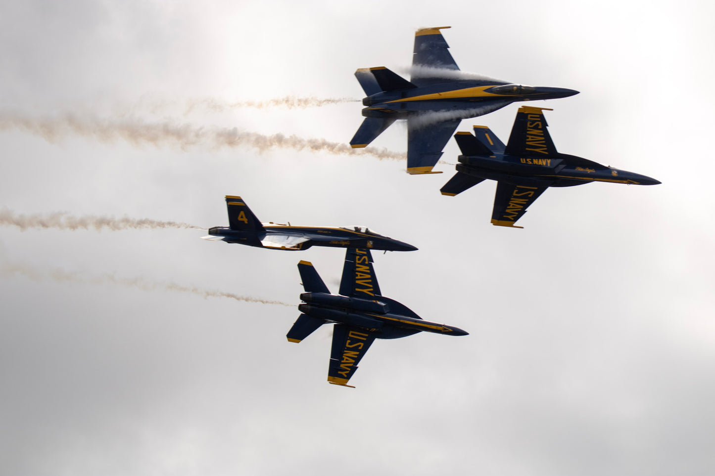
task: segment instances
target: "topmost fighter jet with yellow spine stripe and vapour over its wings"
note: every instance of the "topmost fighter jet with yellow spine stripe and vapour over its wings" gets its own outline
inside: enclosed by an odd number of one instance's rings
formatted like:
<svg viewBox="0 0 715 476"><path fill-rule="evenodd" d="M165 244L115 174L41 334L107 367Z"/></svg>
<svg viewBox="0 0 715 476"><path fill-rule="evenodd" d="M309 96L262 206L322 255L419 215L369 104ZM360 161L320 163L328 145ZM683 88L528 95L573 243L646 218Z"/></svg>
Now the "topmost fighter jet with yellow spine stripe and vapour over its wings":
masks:
<svg viewBox="0 0 715 476"><path fill-rule="evenodd" d="M432 168L460 121L501 109L516 101L573 96L573 89L510 84L460 73L448 44L435 26L415 33L410 81L384 66L355 71L367 97L365 120L352 137L353 148L365 147L396 119L407 119L407 172L438 174Z"/></svg>

